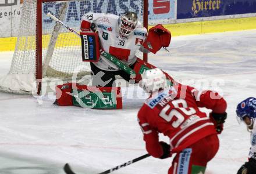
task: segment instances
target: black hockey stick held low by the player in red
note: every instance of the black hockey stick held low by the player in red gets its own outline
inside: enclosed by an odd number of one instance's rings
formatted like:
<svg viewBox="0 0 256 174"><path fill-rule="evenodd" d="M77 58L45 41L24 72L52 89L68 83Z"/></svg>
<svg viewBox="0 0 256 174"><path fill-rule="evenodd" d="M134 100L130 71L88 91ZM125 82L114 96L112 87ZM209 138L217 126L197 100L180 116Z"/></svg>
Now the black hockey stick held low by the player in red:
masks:
<svg viewBox="0 0 256 174"><path fill-rule="evenodd" d="M135 158L135 159L133 159L133 160L131 160L131 161L127 161L127 162L125 162L125 163L123 163L123 164L121 164L121 165L115 166L115 167L113 167L113 168L111 168L111 169L108 169L107 171L104 171L104 172L101 172L101 173L98 173L98 174L107 174L107 173L111 173L111 172L113 172L113 171L117 171L117 170L120 169L120 168L123 168L123 167L125 167L125 166L127 166L127 165L133 164L134 162L143 160L144 158L147 158L147 157L150 157L150 156L151 156L150 154L142 155L142 156L140 156L140 157L138 157L138 158ZM66 174L76 174L76 173L74 173L74 172L72 171L72 169L70 168L69 164L65 164L65 166L64 166L63 169L64 169L64 171L65 171Z"/></svg>

